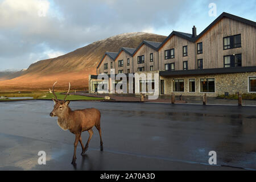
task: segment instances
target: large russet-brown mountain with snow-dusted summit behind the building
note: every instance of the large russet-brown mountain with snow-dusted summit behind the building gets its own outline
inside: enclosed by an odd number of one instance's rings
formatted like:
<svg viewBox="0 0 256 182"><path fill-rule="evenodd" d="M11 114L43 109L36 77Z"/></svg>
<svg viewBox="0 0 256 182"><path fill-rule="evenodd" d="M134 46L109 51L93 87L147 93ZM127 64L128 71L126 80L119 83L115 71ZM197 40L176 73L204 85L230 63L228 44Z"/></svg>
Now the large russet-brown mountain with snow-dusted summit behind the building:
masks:
<svg viewBox="0 0 256 182"><path fill-rule="evenodd" d="M96 75L98 63L106 51L118 52L121 47L137 48L143 40L163 42L166 36L134 32L112 36L63 56L31 64L26 71L11 80L0 81L0 90L48 90L53 82L57 89L88 88L88 76Z"/></svg>

